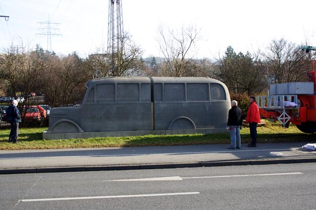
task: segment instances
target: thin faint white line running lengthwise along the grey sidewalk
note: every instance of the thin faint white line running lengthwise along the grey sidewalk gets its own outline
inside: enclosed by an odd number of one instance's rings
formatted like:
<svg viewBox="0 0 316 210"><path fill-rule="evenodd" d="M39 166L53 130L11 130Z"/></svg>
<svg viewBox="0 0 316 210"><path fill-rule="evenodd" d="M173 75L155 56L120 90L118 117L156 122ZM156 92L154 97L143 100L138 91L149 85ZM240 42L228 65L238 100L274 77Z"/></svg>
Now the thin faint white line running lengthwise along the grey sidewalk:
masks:
<svg viewBox="0 0 316 210"><path fill-rule="evenodd" d="M252 150L221 150L221 151L206 151L206 152L173 152L173 153L144 153L144 154L114 154L114 155L74 155L74 156L38 156L38 157L1 157L1 159L32 159L32 158L78 158L78 157L124 157L124 156L141 156L141 155L187 155L187 154L207 154L207 153L235 153L235 152L260 152L260 151L293 151L296 148L290 149L252 149ZM4 155L1 154L1 155Z"/></svg>

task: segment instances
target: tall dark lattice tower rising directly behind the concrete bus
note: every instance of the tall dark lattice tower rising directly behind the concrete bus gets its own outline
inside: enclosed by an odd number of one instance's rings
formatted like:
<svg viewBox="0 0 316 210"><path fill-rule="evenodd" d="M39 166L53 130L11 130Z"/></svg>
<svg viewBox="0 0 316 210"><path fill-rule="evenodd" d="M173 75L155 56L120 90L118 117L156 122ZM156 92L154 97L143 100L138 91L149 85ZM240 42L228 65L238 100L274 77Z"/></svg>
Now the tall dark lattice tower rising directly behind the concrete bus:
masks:
<svg viewBox="0 0 316 210"><path fill-rule="evenodd" d="M120 69L124 50L123 39L122 2L109 0L107 55L111 59L112 74Z"/></svg>

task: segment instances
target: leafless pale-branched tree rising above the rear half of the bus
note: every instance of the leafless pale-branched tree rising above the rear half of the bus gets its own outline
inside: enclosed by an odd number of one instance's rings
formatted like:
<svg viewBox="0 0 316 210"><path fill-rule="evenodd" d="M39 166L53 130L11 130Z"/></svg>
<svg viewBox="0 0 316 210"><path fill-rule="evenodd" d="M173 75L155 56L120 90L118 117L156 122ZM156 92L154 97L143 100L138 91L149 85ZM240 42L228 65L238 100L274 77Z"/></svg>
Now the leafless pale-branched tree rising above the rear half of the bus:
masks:
<svg viewBox="0 0 316 210"><path fill-rule="evenodd" d="M180 30L158 28L158 46L164 56L163 76L189 76L200 68L193 59L192 51L199 39L199 31L194 26L181 27Z"/></svg>

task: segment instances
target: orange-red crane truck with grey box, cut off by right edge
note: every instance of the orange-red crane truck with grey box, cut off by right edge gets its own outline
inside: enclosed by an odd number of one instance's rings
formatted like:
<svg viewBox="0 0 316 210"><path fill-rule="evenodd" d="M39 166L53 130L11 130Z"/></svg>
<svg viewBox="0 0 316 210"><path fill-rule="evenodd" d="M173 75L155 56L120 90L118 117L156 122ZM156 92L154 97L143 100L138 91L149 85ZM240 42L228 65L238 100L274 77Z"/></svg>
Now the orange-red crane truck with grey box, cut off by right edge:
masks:
<svg viewBox="0 0 316 210"><path fill-rule="evenodd" d="M315 47L302 49L314 50ZM306 48L306 49L305 49ZM308 82L290 82L270 85L270 95L257 96L260 114L270 121L289 123L304 133L316 132L316 71L308 72Z"/></svg>

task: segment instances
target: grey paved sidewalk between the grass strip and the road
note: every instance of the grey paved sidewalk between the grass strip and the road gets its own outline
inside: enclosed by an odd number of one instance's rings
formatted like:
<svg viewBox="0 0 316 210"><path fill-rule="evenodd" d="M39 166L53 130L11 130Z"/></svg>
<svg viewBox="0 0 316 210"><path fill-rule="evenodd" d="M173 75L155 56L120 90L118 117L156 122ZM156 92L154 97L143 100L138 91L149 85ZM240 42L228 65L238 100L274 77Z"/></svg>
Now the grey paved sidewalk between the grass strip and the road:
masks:
<svg viewBox="0 0 316 210"><path fill-rule="evenodd" d="M300 148L306 143L0 150L0 174L316 162L316 151Z"/></svg>

